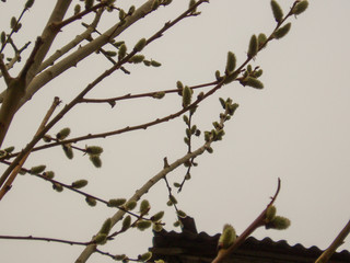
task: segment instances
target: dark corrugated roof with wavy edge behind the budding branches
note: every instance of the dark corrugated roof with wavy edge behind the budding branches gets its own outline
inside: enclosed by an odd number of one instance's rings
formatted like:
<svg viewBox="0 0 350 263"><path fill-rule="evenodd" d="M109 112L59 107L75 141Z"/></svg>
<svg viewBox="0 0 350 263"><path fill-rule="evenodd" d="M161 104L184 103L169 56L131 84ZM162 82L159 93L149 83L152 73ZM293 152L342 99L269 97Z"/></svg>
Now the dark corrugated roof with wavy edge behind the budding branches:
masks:
<svg viewBox="0 0 350 263"><path fill-rule="evenodd" d="M151 249L155 255L190 255L190 256L206 256L214 258L217 254L217 245L220 233L209 236L206 232L167 232L162 230L154 235L153 248ZM257 240L253 237L237 249L234 254L243 256L254 255L276 258L283 258L287 262L288 259L300 259L298 262L314 262L320 254L322 250L317 247L305 248L298 243L290 245L285 240L273 241L270 238ZM312 260L311 260L312 259ZM272 260L272 259L271 259ZM273 262L273 261L271 261ZM276 261L278 262L278 261ZM349 251L335 253L329 262L348 262L350 263Z"/></svg>

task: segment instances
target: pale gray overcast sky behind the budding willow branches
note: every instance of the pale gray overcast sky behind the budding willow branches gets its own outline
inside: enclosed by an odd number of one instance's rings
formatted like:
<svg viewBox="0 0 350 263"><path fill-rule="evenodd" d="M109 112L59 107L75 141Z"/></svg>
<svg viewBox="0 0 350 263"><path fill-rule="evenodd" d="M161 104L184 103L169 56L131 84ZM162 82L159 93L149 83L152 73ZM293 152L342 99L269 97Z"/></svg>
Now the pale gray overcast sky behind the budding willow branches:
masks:
<svg viewBox="0 0 350 263"><path fill-rule="evenodd" d="M8 31L9 18L16 15L24 1L1 3L1 31ZM78 1L77 1L78 2ZM143 1L117 1L139 5ZM135 25L120 39L130 47L141 37L149 37L164 22L176 18L188 1L174 3ZM252 34L269 34L275 27L270 1L212 0L200 8L202 14L179 23L144 55L162 62L161 68L128 66L130 76L115 73L89 98L106 98L150 90L174 89L177 80L194 85L214 80L214 71L223 71L226 53L232 50L237 64L244 61ZM292 1L279 1L284 11ZM25 16L19 43L35 39L49 15L55 1L36 0ZM74 5L74 4L73 4ZM73 7L72 5L72 7ZM3 8L7 7L7 8ZM326 249L349 220L347 204L350 163L350 89L348 84L350 2L347 0L311 1L307 12L292 19L291 32L270 43L254 61L260 66L264 90L244 88L237 83L225 85L202 104L194 122L203 132L220 113L219 96L232 98L240 104L234 118L225 126L226 135L213 145L213 155L198 158L192 179L177 196L179 208L195 217L199 231L220 232L226 222L240 235L266 207L282 180L276 203L278 214L291 219L284 231L259 229L253 236L287 240L291 245ZM104 24L115 18L108 16ZM161 23L161 24L160 24ZM106 27L106 26L105 26ZM59 48L77 32L63 31ZM33 136L40 118L55 95L68 103L82 88L103 72L108 62L93 56L67 75L51 81L15 118L4 146L21 149ZM14 69L13 73L15 72ZM1 90L3 83L1 83ZM180 106L180 98L167 95L163 100L124 101L110 106L80 105L52 129L69 126L72 136L122 128L165 116ZM150 176L159 172L162 160L170 161L186 153L183 142L185 125L182 119L144 130L122 134L107 140L79 144L101 145L103 168L94 169L86 157L75 153L67 160L60 148L34 153L27 167L47 164L57 180L71 183L88 179L88 192L102 198L129 197ZM200 146L202 138L194 146ZM1 170L4 168L2 167ZM180 182L185 169L168 175ZM166 207L166 187L160 182L147 196L153 213L165 209L166 229L175 219ZM11 192L0 203L0 235L43 236L89 241L105 218L114 210L103 205L85 205L83 197L63 191L58 194L51 185L31 176L16 180ZM101 247L110 253L136 256L151 247L150 231L131 231L110 245ZM350 250L346 242L340 250ZM45 242L0 240L1 259L5 262L72 262L82 247ZM91 262L109 262L94 255Z"/></svg>

